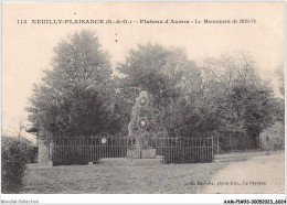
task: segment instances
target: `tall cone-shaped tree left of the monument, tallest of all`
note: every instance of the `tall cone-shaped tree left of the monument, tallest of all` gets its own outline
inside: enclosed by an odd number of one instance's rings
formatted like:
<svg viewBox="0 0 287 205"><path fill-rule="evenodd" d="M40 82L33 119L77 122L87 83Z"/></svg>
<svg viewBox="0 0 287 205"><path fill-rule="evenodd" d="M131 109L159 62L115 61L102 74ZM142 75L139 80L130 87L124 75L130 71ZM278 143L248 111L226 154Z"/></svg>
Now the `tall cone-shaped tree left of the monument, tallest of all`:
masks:
<svg viewBox="0 0 287 205"><path fill-rule="evenodd" d="M34 85L30 120L51 136L115 132L115 86L107 53L89 31L75 33L54 48L51 69Z"/></svg>

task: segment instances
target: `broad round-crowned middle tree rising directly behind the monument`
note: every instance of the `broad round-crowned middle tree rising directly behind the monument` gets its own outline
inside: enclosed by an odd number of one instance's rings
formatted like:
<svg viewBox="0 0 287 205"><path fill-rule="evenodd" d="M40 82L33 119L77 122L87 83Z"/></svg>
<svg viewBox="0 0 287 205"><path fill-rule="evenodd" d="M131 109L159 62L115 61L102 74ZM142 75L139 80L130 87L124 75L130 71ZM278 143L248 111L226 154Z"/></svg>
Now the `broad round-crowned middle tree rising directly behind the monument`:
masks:
<svg viewBox="0 0 287 205"><path fill-rule="evenodd" d="M181 93L184 72L194 67L194 62L189 61L181 48L138 45L128 52L126 62L117 66L120 107L126 108L127 116L130 116L136 97L145 90L152 96L155 112L166 112L168 105Z"/></svg>

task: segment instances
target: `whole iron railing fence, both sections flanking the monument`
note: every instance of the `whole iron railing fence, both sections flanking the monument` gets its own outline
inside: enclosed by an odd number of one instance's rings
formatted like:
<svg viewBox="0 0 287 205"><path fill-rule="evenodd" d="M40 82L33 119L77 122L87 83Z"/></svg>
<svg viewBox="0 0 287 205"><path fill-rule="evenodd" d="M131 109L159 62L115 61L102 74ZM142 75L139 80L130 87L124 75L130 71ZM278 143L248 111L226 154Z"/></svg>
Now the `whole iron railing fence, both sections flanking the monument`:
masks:
<svg viewBox="0 0 287 205"><path fill-rule="evenodd" d="M213 138L158 138L150 140L149 149L162 155L164 163L212 162ZM53 164L97 163L102 158L127 158L135 140L128 138L76 137L54 138L51 145Z"/></svg>

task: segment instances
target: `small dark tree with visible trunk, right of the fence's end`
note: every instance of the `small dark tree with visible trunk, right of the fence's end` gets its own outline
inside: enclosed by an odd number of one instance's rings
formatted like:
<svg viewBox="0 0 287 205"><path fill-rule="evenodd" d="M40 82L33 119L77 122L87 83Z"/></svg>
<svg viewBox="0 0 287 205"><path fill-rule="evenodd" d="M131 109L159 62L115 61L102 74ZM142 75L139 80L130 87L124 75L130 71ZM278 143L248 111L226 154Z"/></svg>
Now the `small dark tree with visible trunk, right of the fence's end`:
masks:
<svg viewBox="0 0 287 205"><path fill-rule="evenodd" d="M249 137L251 147L258 148L259 133L275 120L275 98L266 85L236 86L228 96L233 111Z"/></svg>

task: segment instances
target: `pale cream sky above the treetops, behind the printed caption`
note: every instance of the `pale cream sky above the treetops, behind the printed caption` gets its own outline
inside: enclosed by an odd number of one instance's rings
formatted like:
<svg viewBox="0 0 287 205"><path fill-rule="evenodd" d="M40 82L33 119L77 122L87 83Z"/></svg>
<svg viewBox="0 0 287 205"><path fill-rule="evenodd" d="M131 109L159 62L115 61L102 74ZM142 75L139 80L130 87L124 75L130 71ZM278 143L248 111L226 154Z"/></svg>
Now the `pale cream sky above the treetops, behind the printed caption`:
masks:
<svg viewBox="0 0 287 205"><path fill-rule="evenodd" d="M230 24L33 24L32 20L255 20ZM26 23L18 23L26 20ZM2 6L2 130L25 120L32 85L50 68L53 47L76 31L98 35L114 67L138 44L180 46L190 60L248 53L276 90L284 64L284 2L29 2ZM117 41L116 41L117 40ZM281 67L283 68L283 67ZM31 136L26 134L28 138Z"/></svg>

